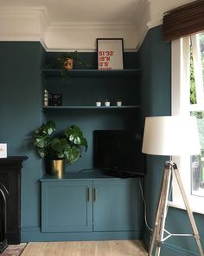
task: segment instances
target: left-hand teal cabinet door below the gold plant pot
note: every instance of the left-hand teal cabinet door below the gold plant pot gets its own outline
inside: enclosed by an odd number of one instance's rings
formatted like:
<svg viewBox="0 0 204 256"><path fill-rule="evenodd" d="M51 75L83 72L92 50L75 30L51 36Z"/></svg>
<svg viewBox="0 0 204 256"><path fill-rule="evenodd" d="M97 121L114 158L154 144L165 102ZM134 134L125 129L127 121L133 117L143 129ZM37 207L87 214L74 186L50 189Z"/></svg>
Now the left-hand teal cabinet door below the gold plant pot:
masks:
<svg viewBox="0 0 204 256"><path fill-rule="evenodd" d="M41 183L41 232L92 231L92 181Z"/></svg>

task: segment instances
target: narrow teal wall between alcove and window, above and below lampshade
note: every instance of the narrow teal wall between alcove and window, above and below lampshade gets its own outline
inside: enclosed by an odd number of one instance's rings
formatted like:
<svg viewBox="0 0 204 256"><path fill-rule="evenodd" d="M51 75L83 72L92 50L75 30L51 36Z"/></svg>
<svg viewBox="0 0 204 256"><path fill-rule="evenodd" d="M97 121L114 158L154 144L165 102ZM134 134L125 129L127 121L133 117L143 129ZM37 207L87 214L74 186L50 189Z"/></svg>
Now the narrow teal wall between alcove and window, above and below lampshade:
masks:
<svg viewBox="0 0 204 256"><path fill-rule="evenodd" d="M143 70L142 109L145 116L170 115L170 43L163 43L162 28L149 30L138 51L139 66ZM163 172L163 157L147 155L145 198L148 220L154 223L156 202Z"/></svg>

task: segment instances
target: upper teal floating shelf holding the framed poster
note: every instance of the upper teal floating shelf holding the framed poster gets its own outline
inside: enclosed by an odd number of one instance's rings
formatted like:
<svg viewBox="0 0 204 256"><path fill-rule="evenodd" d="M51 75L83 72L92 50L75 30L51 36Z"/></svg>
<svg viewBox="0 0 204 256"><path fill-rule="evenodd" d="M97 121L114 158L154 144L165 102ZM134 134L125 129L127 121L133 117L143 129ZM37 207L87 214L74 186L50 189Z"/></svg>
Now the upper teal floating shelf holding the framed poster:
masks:
<svg viewBox="0 0 204 256"><path fill-rule="evenodd" d="M99 70L99 69L70 69L64 70L68 76L125 76L125 75L139 75L140 69L112 69L112 70ZM61 69L41 69L43 75L48 77L61 77Z"/></svg>

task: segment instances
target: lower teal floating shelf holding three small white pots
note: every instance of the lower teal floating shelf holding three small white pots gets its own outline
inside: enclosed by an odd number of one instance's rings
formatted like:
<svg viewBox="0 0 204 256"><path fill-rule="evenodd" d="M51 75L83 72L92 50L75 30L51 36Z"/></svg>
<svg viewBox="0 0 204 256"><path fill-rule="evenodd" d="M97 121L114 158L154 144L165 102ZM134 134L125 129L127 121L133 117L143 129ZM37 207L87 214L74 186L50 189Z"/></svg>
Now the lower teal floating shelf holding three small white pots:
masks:
<svg viewBox="0 0 204 256"><path fill-rule="evenodd" d="M48 106L48 107L42 107L43 110L47 109L123 109L123 108L141 108L141 106L136 105L130 105L130 106Z"/></svg>

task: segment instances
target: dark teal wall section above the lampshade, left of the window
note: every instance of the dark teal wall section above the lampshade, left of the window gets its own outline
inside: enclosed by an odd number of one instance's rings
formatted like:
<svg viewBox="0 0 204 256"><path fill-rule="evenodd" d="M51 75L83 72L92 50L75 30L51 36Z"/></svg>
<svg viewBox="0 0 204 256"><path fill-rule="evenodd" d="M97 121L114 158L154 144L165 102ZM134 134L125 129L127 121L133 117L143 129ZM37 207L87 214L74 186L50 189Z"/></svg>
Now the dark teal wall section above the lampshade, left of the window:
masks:
<svg viewBox="0 0 204 256"><path fill-rule="evenodd" d="M138 51L142 69L142 109L144 116L170 115L170 43L163 43L162 27L149 30Z"/></svg>

